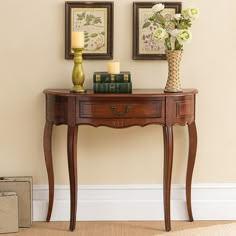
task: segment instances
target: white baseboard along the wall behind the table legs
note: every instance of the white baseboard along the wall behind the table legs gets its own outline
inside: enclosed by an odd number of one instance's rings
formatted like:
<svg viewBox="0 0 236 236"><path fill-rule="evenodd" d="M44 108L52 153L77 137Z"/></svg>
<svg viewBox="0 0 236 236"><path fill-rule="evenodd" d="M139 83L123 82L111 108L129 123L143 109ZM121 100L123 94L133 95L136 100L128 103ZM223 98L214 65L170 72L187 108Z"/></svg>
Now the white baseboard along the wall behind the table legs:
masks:
<svg viewBox="0 0 236 236"><path fill-rule="evenodd" d="M162 185L80 185L79 221L163 220ZM33 220L44 221L48 186L34 185ZM192 208L195 220L235 220L236 184L193 184ZM69 186L55 186L52 221L68 221ZM171 219L187 220L185 188L172 185Z"/></svg>

